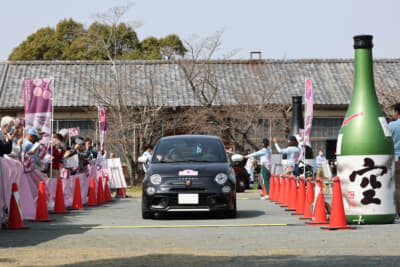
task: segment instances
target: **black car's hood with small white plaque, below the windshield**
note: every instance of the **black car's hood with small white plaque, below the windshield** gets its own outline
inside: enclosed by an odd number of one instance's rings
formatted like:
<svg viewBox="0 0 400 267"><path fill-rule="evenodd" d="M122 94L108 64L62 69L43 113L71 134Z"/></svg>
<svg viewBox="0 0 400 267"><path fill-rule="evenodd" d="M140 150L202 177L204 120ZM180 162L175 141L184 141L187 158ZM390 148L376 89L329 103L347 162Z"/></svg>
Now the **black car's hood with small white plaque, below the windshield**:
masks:
<svg viewBox="0 0 400 267"><path fill-rule="evenodd" d="M150 175L163 177L214 177L218 173L230 174L228 163L152 163Z"/></svg>

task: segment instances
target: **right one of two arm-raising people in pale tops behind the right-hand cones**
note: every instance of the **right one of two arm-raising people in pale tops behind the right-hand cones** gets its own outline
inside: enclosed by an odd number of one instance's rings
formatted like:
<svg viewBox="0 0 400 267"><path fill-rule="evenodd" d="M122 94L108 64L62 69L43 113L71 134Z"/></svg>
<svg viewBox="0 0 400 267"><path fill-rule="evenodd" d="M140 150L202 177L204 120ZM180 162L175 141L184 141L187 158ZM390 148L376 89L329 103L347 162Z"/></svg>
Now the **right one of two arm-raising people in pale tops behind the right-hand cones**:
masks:
<svg viewBox="0 0 400 267"><path fill-rule="evenodd" d="M275 137L272 141L275 143L275 148L279 153L287 155L287 168L285 173L287 175L297 176L299 174L299 156L301 152L297 138L295 136L289 136L288 147L283 149L279 147Z"/></svg>

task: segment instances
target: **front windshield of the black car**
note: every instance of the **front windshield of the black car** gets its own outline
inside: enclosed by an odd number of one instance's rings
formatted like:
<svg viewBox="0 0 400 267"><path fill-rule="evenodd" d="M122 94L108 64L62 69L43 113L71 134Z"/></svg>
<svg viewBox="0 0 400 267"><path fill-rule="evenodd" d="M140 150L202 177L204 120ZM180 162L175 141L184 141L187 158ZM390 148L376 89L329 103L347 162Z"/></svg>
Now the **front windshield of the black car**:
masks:
<svg viewBox="0 0 400 267"><path fill-rule="evenodd" d="M227 157L225 149L218 139L174 138L161 140L158 143L152 162L227 162Z"/></svg>

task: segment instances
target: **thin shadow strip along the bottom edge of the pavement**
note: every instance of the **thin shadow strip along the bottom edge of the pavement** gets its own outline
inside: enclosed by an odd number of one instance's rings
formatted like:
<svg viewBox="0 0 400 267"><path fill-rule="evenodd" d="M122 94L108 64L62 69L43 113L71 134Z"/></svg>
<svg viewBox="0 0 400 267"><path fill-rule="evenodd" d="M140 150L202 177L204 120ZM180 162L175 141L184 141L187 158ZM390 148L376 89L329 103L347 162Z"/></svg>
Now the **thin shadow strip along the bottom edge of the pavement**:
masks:
<svg viewBox="0 0 400 267"><path fill-rule="evenodd" d="M398 266L400 256L196 256L145 255L122 259L84 261L62 266ZM61 265L60 265L61 266Z"/></svg>

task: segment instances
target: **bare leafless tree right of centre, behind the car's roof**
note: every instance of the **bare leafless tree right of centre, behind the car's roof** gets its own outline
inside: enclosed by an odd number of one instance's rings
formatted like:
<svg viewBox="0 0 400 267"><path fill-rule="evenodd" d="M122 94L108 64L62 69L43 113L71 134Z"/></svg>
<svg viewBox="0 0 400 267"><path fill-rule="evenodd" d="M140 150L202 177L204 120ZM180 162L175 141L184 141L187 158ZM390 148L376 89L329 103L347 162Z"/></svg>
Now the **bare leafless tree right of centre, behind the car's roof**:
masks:
<svg viewBox="0 0 400 267"><path fill-rule="evenodd" d="M222 44L222 33L218 31L198 42L185 43L188 53L178 64L199 104L191 116L200 129L222 135L227 143L234 144L239 150L246 145L256 148L257 144L250 136L260 119L263 123L268 120L270 128L281 128L287 123L287 106L272 101L279 92L278 86L287 78L283 75L277 77L279 74L267 77L263 61L250 62L254 83L236 90L229 97L221 97L224 88L219 81L225 74L218 72L216 66L219 62L213 61L213 57ZM235 51L225 56L224 61L234 54ZM280 123L275 123L278 120ZM288 128L288 123L284 128Z"/></svg>

